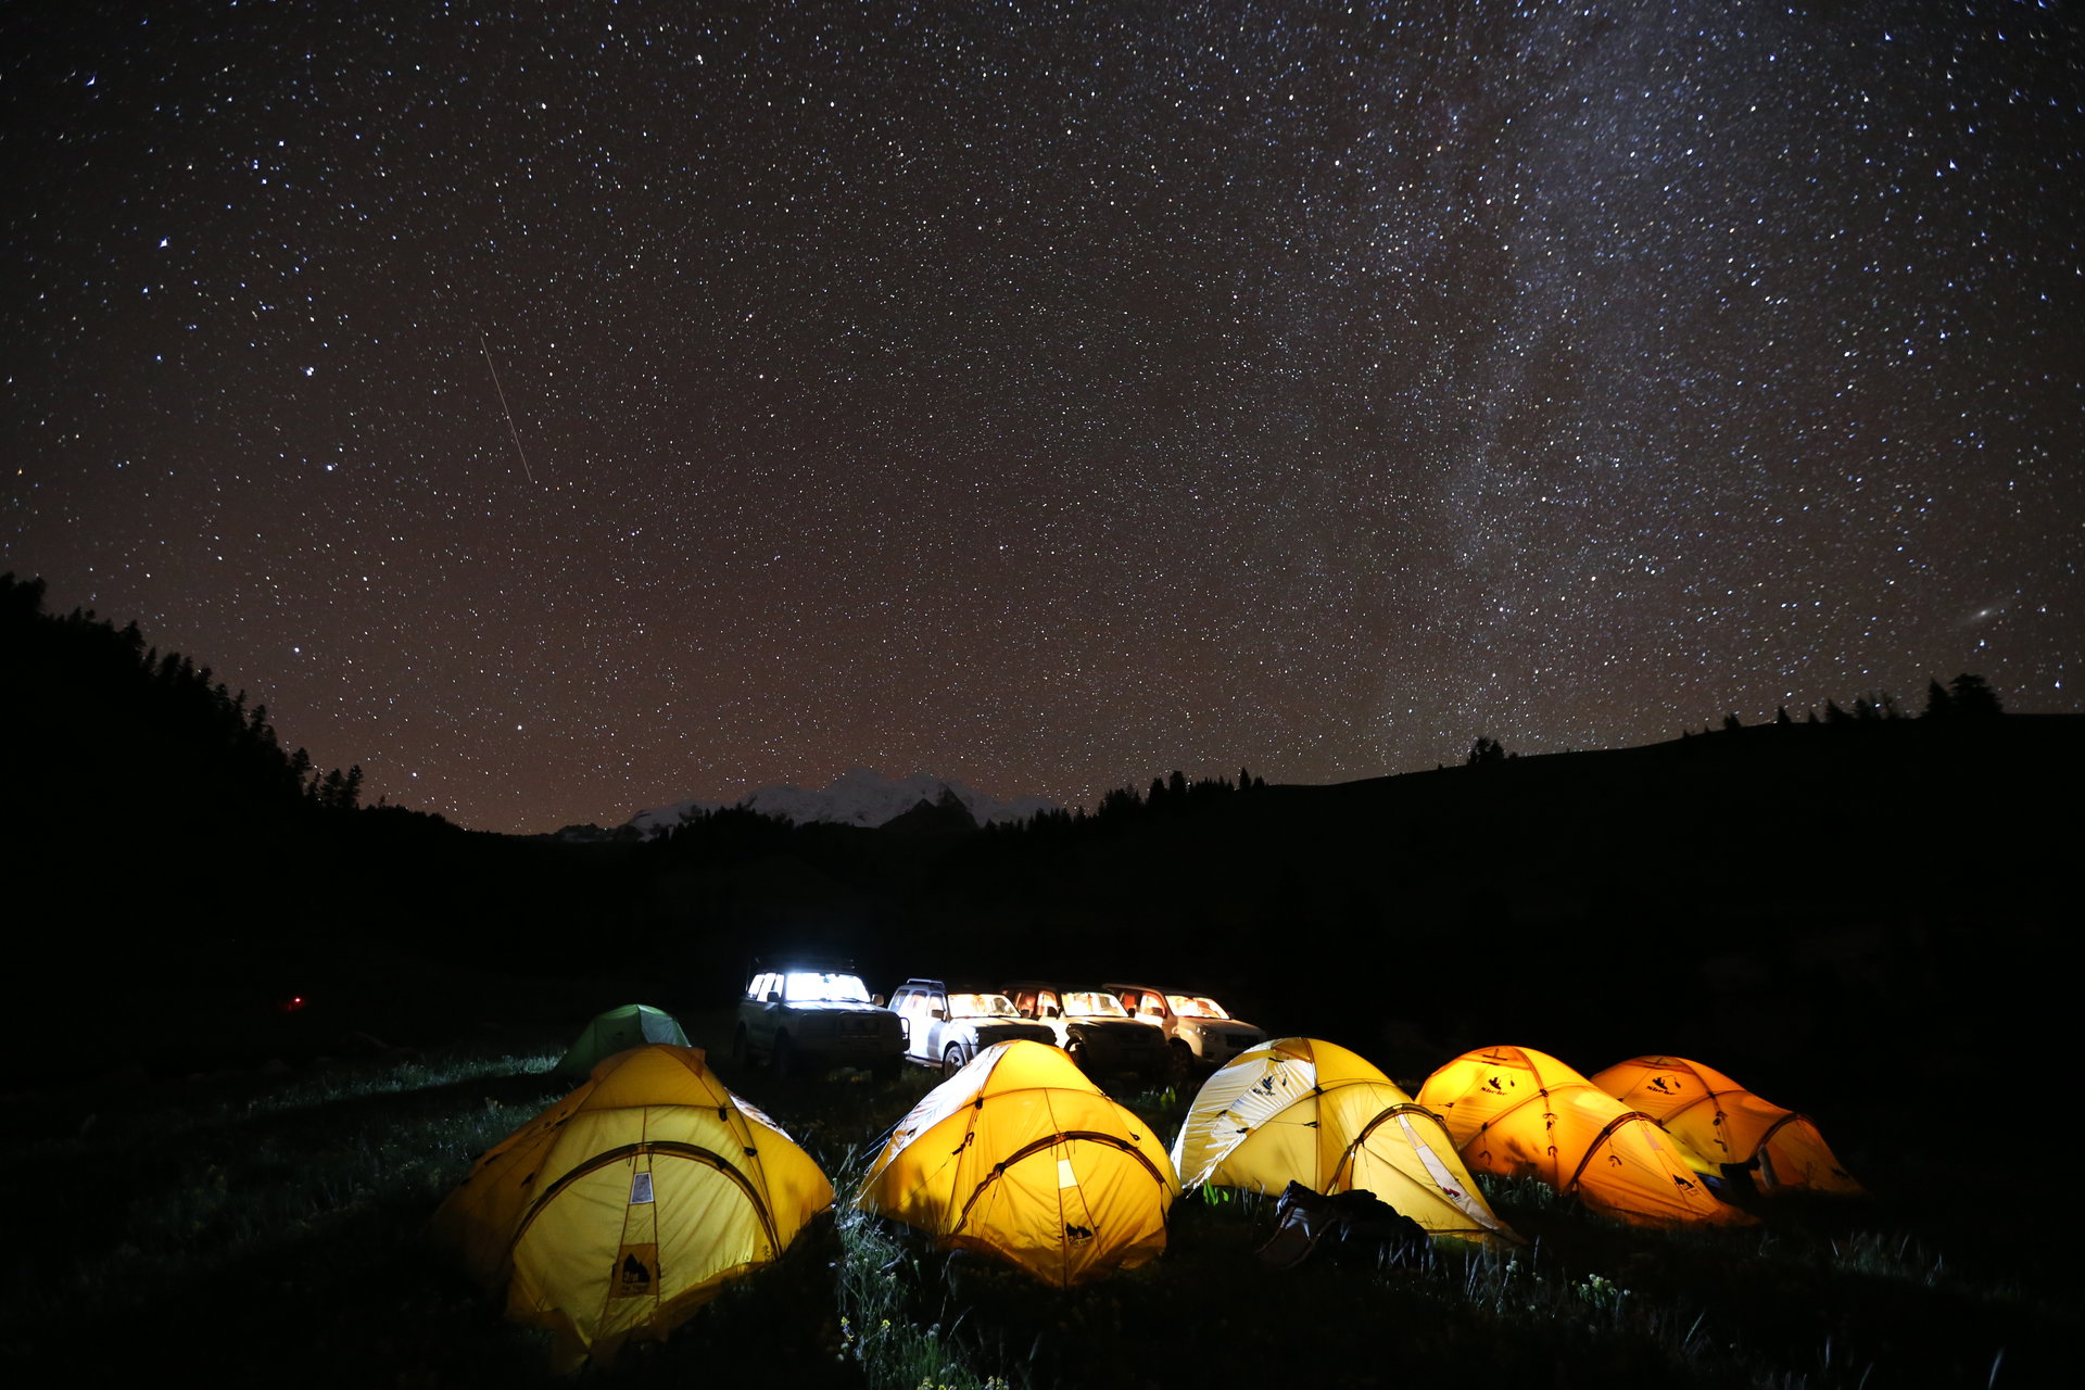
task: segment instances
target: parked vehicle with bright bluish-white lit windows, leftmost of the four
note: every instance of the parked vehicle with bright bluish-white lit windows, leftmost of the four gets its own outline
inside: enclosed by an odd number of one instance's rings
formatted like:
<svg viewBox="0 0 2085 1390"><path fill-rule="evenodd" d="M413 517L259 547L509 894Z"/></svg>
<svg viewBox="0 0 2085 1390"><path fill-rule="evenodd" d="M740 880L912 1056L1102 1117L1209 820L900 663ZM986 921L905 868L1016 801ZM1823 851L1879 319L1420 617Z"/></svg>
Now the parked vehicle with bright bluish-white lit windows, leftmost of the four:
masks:
<svg viewBox="0 0 2085 1390"><path fill-rule="evenodd" d="M905 1025L851 969L807 963L759 969L738 1000L732 1061L742 1067L765 1061L776 1075L830 1067L897 1075L905 1065Z"/></svg>

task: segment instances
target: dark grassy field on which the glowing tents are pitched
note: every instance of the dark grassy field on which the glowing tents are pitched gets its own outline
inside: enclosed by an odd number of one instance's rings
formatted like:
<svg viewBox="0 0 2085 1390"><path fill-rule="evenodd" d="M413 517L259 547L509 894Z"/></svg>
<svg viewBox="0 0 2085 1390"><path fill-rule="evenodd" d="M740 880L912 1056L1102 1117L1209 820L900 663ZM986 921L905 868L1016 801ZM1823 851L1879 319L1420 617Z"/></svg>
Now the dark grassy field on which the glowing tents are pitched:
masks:
<svg viewBox="0 0 2085 1390"><path fill-rule="evenodd" d="M569 1032L498 1046L17 1096L0 1136L10 1384L563 1384L421 1242L471 1159L563 1094ZM701 1027L696 1042L705 1042ZM1445 1061L1445 1059L1443 1059ZM1272 1202L1186 1198L1168 1255L1055 1292L853 1215L844 1194L936 1077L723 1077L842 1192L790 1255L663 1346L588 1380L786 1386L2039 1386L2068 1380L2081 1280L2020 1169L1947 1115L1820 1115L1872 1198L1793 1202L1739 1232L1641 1232L1489 1194L1532 1248L1378 1267L1253 1259ZM1174 1134L1188 1096L1118 1096ZM2002 1136L2000 1140L2002 1142ZM1505 1380L1510 1377L1510 1380Z"/></svg>

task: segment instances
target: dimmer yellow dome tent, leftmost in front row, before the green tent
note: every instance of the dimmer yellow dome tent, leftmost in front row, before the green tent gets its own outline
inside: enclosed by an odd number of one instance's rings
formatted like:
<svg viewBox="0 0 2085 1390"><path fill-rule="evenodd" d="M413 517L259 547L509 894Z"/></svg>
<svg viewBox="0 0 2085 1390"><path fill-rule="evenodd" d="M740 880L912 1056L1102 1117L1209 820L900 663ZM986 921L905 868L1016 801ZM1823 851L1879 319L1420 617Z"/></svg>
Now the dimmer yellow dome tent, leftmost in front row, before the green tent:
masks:
<svg viewBox="0 0 2085 1390"><path fill-rule="evenodd" d="M430 1234L507 1315L557 1334L557 1361L663 1340L832 1207L832 1184L728 1092L698 1048L651 1044L488 1150Z"/></svg>

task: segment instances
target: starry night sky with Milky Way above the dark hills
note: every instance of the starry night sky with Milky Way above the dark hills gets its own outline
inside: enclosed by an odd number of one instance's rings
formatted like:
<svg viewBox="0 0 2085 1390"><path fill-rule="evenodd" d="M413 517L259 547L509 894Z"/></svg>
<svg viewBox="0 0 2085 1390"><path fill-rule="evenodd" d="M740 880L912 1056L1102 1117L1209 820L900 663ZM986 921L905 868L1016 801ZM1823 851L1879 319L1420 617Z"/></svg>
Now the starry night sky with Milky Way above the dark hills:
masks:
<svg viewBox="0 0 2085 1390"><path fill-rule="evenodd" d="M0 25L0 567L369 800L2085 709L2075 4Z"/></svg>

